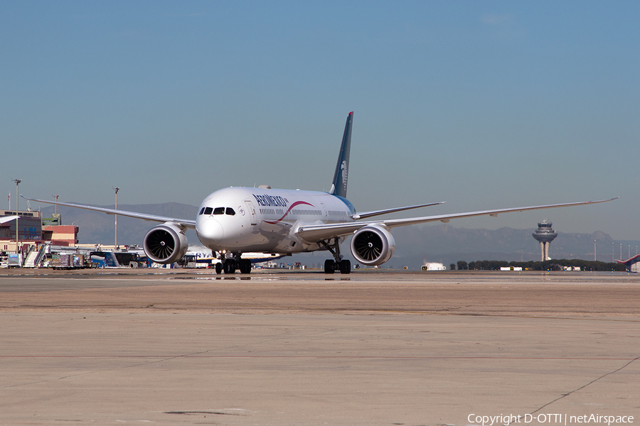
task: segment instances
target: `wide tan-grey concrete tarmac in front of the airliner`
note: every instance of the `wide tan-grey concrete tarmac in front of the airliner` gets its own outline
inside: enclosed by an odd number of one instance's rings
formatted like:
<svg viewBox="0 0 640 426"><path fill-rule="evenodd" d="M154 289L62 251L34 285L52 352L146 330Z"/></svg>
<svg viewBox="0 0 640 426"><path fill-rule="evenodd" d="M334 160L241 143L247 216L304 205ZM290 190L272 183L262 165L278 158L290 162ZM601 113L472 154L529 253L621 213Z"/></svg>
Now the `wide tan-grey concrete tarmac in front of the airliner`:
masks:
<svg viewBox="0 0 640 426"><path fill-rule="evenodd" d="M0 424L640 421L633 275L217 278L0 275Z"/></svg>

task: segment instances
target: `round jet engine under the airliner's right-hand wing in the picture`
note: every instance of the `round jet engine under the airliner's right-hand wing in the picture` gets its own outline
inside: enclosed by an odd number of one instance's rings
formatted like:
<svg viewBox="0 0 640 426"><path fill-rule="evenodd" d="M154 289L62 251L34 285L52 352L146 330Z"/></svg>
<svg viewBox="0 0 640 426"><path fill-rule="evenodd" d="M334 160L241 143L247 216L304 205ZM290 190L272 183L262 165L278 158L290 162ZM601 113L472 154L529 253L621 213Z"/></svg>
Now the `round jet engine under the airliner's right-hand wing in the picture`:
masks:
<svg viewBox="0 0 640 426"><path fill-rule="evenodd" d="M358 229L351 238L351 254L363 265L382 265L395 251L395 239L383 225L369 225Z"/></svg>

